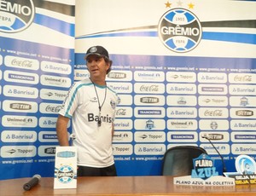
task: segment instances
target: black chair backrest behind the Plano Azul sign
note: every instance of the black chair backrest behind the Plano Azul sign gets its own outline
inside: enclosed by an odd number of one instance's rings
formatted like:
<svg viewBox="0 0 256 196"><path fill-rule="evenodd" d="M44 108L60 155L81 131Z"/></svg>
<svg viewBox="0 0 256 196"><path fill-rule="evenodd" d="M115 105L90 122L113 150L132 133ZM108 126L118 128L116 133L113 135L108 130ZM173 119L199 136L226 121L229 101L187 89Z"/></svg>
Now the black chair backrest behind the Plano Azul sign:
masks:
<svg viewBox="0 0 256 196"><path fill-rule="evenodd" d="M189 176L193 169L193 159L207 151L201 147L178 146L169 148L163 159L163 176Z"/></svg>

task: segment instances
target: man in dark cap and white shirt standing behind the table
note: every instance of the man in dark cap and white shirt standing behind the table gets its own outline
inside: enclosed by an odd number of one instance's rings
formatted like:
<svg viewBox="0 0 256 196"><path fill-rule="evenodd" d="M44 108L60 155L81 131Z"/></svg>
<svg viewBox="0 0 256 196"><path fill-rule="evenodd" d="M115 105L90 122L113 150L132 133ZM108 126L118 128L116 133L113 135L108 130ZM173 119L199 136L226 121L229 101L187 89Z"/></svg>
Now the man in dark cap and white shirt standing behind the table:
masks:
<svg viewBox="0 0 256 196"><path fill-rule="evenodd" d="M78 176L117 176L113 161L113 119L119 97L106 84L112 61L107 49L93 46L84 60L90 78L73 84L56 123L61 146L68 146L67 124L72 118L73 146L78 149Z"/></svg>

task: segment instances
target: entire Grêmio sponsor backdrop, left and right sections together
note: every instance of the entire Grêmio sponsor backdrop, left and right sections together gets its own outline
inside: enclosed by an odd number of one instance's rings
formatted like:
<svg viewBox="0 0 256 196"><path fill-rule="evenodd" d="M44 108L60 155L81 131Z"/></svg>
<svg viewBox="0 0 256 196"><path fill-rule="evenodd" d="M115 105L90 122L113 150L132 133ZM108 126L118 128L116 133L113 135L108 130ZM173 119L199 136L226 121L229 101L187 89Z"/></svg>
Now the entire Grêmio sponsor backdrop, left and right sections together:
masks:
<svg viewBox="0 0 256 196"><path fill-rule="evenodd" d="M57 112L73 80L89 76L84 53L97 44L110 53L108 85L121 98L119 176L160 175L163 153L178 145L205 148L221 172L202 135L228 171L239 154L255 159L254 1L57 2L22 2L25 26L0 9L0 179L53 176Z"/></svg>

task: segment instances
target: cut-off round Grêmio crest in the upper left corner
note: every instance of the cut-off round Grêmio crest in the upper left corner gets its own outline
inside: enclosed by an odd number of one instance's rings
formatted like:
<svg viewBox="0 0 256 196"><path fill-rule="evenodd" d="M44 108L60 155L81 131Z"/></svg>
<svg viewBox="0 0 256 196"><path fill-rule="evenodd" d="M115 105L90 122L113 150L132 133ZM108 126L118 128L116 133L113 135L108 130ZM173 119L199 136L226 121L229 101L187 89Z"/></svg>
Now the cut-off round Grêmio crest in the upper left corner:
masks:
<svg viewBox="0 0 256 196"><path fill-rule="evenodd" d="M21 32L32 24L32 0L0 0L0 32Z"/></svg>

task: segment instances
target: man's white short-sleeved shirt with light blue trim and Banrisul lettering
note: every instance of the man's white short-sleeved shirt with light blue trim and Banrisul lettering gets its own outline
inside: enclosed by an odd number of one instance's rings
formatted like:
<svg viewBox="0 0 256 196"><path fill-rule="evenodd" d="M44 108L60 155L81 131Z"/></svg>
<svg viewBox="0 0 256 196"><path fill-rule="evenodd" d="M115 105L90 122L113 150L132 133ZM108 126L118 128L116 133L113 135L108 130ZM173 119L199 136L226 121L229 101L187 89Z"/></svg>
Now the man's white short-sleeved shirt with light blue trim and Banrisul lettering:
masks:
<svg viewBox="0 0 256 196"><path fill-rule="evenodd" d="M99 103L101 126L97 124ZM90 78L73 84L69 90L59 114L72 118L78 165L100 168L113 164L112 123L118 103L118 95L108 85L93 84Z"/></svg>

